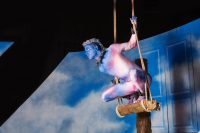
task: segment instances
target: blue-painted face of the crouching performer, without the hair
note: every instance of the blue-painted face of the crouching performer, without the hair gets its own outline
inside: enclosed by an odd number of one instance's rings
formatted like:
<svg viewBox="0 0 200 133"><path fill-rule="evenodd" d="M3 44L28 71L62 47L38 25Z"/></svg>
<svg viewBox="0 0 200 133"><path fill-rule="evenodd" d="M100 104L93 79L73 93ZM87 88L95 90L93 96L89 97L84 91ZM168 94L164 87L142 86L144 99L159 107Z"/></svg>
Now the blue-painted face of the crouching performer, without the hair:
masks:
<svg viewBox="0 0 200 133"><path fill-rule="evenodd" d="M97 48L93 44L88 44L84 46L85 54L88 59L94 59L97 55Z"/></svg>

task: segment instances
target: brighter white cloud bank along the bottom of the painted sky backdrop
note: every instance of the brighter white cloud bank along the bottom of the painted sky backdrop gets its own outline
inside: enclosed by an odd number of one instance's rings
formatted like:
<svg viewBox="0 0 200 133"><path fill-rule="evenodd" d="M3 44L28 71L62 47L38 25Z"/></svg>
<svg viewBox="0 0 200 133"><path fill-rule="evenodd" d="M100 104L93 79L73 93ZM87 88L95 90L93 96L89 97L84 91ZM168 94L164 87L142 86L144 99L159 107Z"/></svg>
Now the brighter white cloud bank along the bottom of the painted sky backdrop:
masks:
<svg viewBox="0 0 200 133"><path fill-rule="evenodd" d="M115 103L116 104L116 103ZM1 127L2 133L109 133L128 128L113 120L113 102L103 103L100 93L92 92L71 108L43 99L37 104L27 100ZM115 115L115 114L113 114Z"/></svg>

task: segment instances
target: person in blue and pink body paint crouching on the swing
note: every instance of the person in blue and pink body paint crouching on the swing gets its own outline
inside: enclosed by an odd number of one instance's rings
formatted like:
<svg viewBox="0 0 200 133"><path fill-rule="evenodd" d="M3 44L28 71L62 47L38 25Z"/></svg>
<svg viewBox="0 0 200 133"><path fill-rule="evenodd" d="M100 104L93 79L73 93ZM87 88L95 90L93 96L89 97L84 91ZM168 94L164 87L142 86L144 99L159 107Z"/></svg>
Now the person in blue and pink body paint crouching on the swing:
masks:
<svg viewBox="0 0 200 133"><path fill-rule="evenodd" d="M108 87L102 94L105 102L118 97L125 97L129 103L144 99L145 76L143 70L123 55L124 51L134 49L136 35L132 34L130 40L121 44L111 44L104 48L102 43L92 38L83 42L88 59L95 59L99 70L119 79L118 84ZM148 74L151 84L151 77Z"/></svg>

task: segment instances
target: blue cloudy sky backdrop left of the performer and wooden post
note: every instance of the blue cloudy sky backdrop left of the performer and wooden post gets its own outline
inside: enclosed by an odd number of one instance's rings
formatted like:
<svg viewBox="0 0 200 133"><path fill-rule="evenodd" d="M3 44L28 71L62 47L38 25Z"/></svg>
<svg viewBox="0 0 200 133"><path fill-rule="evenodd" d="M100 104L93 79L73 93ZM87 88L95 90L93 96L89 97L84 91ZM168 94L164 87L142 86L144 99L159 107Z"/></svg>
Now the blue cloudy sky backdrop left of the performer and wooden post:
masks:
<svg viewBox="0 0 200 133"><path fill-rule="evenodd" d="M134 121L116 116L117 102L101 100L101 93L111 79L100 73L95 62L87 60L83 52L70 53L2 125L0 132L132 132ZM131 117L134 116L127 119Z"/></svg>

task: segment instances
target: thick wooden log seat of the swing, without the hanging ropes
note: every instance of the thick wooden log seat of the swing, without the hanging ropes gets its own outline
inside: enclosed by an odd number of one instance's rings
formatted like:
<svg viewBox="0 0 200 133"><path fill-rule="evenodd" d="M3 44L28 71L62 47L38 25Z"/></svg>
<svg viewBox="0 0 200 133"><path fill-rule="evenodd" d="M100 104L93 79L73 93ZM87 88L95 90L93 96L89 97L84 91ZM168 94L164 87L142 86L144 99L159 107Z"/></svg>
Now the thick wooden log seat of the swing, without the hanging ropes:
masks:
<svg viewBox="0 0 200 133"><path fill-rule="evenodd" d="M160 104L156 100L140 100L135 103L118 105L116 107L116 114L119 117L124 117L128 114L160 111Z"/></svg>

